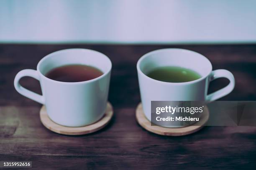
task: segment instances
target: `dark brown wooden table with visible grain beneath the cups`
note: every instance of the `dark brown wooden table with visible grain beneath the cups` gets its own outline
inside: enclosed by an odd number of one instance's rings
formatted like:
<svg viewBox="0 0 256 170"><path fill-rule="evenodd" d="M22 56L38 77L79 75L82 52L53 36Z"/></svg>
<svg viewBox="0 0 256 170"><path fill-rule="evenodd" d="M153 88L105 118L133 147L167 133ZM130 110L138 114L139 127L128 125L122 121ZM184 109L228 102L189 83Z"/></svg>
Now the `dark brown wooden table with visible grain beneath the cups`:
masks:
<svg viewBox="0 0 256 170"><path fill-rule="evenodd" d="M18 94L13 79L19 70L36 69L45 55L66 48L89 48L113 63L110 124L96 133L59 135L39 120L40 104ZM182 136L155 135L135 119L140 102L136 62L146 52L180 47L209 58L213 69L233 72L236 87L221 100L256 100L256 45L0 45L0 161L33 161L36 169L255 169L256 127L205 127ZM227 85L215 80L210 92ZM21 84L41 92L39 82Z"/></svg>

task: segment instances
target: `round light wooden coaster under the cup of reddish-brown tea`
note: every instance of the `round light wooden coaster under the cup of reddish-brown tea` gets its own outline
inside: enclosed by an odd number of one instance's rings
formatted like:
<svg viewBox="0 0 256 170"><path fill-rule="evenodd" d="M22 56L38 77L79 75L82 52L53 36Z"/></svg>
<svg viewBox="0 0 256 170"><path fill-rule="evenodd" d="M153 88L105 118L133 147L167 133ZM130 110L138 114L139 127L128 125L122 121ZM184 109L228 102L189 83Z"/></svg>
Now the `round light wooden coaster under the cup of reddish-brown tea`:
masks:
<svg viewBox="0 0 256 170"><path fill-rule="evenodd" d="M88 133L96 132L97 130L100 130L104 128L108 122L110 122L111 118L113 117L113 107L108 102L107 109L105 115L97 122L83 126L83 127L67 127L59 125L55 122L53 122L47 115L46 107L43 105L40 110L40 120L43 123L43 125L56 133L64 134L64 135L84 135Z"/></svg>

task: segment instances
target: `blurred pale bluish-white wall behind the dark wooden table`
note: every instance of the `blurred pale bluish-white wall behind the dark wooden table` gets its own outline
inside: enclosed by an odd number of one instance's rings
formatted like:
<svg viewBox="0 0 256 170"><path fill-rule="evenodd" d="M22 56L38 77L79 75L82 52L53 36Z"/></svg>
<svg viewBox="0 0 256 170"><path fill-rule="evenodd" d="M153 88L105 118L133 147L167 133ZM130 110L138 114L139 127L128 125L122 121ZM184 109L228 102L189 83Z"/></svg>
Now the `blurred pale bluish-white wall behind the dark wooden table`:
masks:
<svg viewBox="0 0 256 170"><path fill-rule="evenodd" d="M0 0L0 42L256 42L256 0Z"/></svg>

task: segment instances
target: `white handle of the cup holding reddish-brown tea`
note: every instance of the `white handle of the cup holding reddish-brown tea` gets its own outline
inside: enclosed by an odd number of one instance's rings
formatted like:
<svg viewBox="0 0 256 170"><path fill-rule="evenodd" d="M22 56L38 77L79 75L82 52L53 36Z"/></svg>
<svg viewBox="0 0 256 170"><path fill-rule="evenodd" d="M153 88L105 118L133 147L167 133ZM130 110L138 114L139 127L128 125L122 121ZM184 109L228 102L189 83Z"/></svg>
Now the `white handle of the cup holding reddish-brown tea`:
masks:
<svg viewBox="0 0 256 170"><path fill-rule="evenodd" d="M26 69L26 70L21 70L20 72L18 72L18 74L15 76L14 79L14 87L15 89L23 96L26 96L32 100L35 100L36 102L39 102L41 104L44 105L44 97L42 95L38 95L35 92L32 92L24 87L22 87L19 83L20 78L25 77L25 76L29 76L29 77L33 77L34 79L39 80L39 75L38 72L36 70L32 70L32 69Z"/></svg>

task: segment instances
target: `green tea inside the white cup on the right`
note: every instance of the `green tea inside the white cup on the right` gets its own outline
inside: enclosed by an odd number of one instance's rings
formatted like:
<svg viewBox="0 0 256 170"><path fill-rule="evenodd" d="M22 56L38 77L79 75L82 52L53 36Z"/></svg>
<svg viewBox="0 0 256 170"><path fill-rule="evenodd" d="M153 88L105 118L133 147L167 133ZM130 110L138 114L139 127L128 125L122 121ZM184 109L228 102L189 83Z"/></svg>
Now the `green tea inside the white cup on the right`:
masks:
<svg viewBox="0 0 256 170"><path fill-rule="evenodd" d="M157 67L148 72L147 76L163 82L189 82L201 78L193 70L174 66Z"/></svg>

